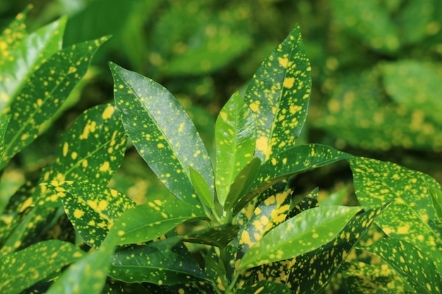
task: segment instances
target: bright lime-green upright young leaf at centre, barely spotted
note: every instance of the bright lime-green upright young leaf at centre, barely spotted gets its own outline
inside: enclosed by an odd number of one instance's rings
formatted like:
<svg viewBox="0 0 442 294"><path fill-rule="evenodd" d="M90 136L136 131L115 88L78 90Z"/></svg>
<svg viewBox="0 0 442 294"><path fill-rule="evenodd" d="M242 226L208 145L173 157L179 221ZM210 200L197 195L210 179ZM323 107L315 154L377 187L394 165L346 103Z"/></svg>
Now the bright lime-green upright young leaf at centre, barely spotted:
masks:
<svg viewBox="0 0 442 294"><path fill-rule="evenodd" d="M218 200L223 205L234 178L249 163L255 150L253 114L239 92L230 97L217 116L215 142L215 184Z"/></svg>

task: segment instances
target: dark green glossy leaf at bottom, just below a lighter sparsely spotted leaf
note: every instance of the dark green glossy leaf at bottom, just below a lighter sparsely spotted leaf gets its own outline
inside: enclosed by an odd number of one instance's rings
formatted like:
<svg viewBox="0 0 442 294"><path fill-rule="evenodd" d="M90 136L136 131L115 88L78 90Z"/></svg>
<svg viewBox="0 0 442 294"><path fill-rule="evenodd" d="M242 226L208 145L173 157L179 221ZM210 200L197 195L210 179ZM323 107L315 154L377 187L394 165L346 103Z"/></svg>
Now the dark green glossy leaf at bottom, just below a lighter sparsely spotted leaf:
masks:
<svg viewBox="0 0 442 294"><path fill-rule="evenodd" d="M207 280L206 274L184 245L170 248L156 242L117 250L111 259L109 276L126 283L148 282L157 285Z"/></svg>

